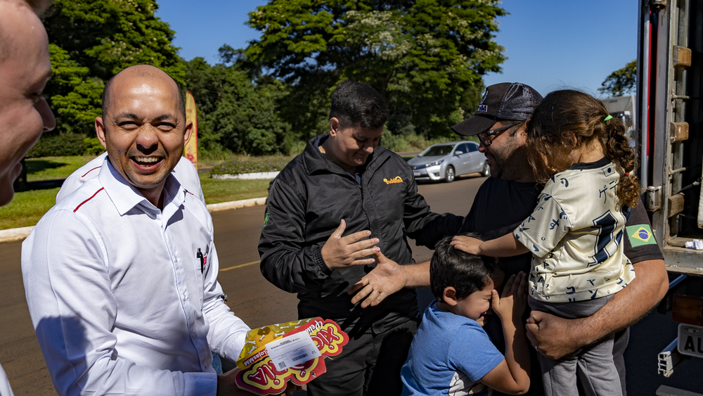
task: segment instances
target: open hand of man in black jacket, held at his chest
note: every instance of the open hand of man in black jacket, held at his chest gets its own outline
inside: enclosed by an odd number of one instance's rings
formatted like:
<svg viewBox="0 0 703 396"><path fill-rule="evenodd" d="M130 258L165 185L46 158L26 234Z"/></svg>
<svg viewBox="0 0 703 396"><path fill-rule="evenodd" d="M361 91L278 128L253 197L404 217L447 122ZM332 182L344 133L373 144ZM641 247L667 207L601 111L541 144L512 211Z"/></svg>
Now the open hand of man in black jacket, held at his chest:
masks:
<svg viewBox="0 0 703 396"><path fill-rule="evenodd" d="M352 235L342 236L347 223L344 219L340 222L335 232L330 235L325 245L322 247L322 258L330 269L347 268L352 265L373 264L373 258L365 259L374 253L380 252L380 248L375 247L378 238L370 238L359 241L371 235L371 231L359 231Z"/></svg>

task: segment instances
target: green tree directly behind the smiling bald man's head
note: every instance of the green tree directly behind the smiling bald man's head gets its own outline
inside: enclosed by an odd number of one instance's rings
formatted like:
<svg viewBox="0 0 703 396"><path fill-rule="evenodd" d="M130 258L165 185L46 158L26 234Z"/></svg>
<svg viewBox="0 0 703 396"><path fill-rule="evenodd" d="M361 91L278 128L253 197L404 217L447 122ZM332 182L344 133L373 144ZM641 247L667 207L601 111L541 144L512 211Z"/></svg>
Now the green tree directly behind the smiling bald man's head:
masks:
<svg viewBox="0 0 703 396"><path fill-rule="evenodd" d="M131 65L162 68L183 84L175 32L154 13L154 0L55 0L44 26L53 79L45 94L58 132L93 135L105 82Z"/></svg>

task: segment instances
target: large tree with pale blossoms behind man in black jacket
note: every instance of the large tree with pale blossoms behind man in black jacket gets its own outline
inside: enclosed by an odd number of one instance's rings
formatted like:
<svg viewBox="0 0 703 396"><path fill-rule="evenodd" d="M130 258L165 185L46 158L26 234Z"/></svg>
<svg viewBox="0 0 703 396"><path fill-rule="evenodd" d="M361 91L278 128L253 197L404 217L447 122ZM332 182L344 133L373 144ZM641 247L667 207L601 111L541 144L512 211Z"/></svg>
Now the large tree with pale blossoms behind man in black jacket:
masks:
<svg viewBox="0 0 703 396"><path fill-rule="evenodd" d="M294 129L324 121L330 90L344 79L366 82L385 98L389 127L412 124L429 135L477 102L482 75L499 72L494 41L497 0L270 0L249 14L262 32L246 56L292 84ZM305 111L305 106L313 106ZM324 109L324 110L322 110Z"/></svg>

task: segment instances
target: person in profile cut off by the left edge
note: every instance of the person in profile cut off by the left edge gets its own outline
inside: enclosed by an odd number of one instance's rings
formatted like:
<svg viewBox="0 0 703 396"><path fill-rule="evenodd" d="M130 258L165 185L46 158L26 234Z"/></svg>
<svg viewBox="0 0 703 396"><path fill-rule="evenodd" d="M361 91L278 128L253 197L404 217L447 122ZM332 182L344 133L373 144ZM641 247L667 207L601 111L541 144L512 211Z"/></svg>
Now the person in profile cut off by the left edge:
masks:
<svg viewBox="0 0 703 396"><path fill-rule="evenodd" d="M41 92L51 78L49 40L35 13L46 1L0 0L0 206L14 195L20 160L56 119ZM13 396L0 366L0 395Z"/></svg>

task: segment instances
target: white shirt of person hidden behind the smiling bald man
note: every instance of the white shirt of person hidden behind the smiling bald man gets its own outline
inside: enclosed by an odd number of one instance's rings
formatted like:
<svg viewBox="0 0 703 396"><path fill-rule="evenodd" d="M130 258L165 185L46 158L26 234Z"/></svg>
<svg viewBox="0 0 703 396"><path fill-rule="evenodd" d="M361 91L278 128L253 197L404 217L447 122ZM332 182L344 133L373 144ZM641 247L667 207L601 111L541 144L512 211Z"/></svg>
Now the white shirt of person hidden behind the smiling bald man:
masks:
<svg viewBox="0 0 703 396"><path fill-rule="evenodd" d="M67 177L61 189L56 193L56 203L58 203L63 198L66 198L70 193L76 191L80 186L82 186L86 181L93 179L93 177L98 176L100 173L100 168L103 166L103 161L108 156L108 153L102 153L96 158L90 160L86 165L79 167L75 172ZM193 166L193 162L188 160L188 158L181 157L181 160L176 164L174 170L171 172L176 179L178 179L181 186L188 192L193 193L195 198L205 202L205 197L202 195L202 189L200 187L200 177L198 177L198 170Z"/></svg>

